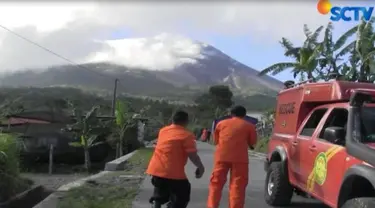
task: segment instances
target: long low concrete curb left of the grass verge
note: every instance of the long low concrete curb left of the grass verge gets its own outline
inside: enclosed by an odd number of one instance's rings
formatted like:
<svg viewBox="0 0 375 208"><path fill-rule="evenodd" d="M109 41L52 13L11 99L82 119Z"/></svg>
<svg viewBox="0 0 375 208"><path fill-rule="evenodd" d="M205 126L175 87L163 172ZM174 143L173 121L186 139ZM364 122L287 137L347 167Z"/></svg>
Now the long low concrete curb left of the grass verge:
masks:
<svg viewBox="0 0 375 208"><path fill-rule="evenodd" d="M110 162L107 162L105 165L104 171L100 171L97 174L78 179L76 181L67 183L65 185L60 186L54 193L49 195L47 198L39 202L37 205L35 205L33 208L51 208L56 207L58 200L63 197L63 193L66 191L69 191L72 188L78 188L85 184L86 181L95 180L97 178L100 178L102 176L105 176L109 173L121 170L121 168L124 167L124 164L127 160L129 160L138 150L134 150L133 152L130 152L122 157L119 157L115 160L112 160ZM107 170L107 165L109 164L109 170Z"/></svg>

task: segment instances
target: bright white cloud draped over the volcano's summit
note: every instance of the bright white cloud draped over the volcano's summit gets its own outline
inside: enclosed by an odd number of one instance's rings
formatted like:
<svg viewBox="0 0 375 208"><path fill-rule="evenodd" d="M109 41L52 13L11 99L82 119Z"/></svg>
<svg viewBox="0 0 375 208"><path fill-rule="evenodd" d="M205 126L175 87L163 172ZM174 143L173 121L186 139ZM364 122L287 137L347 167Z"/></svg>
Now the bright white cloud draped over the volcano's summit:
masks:
<svg viewBox="0 0 375 208"><path fill-rule="evenodd" d="M87 62L110 61L148 70L171 70L184 63L203 59L204 45L183 36L163 33L153 38L105 41L109 47L89 56Z"/></svg>

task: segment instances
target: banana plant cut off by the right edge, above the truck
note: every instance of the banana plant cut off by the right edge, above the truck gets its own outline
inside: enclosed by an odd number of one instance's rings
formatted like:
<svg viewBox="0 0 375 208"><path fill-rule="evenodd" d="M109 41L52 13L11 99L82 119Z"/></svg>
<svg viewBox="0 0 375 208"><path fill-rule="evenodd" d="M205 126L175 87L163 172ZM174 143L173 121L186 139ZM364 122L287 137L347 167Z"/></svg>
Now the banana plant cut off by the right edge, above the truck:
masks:
<svg viewBox="0 0 375 208"><path fill-rule="evenodd" d="M360 60L359 82L374 82L372 75L375 73L375 33L373 24L375 18L364 21L358 25L355 49Z"/></svg>

